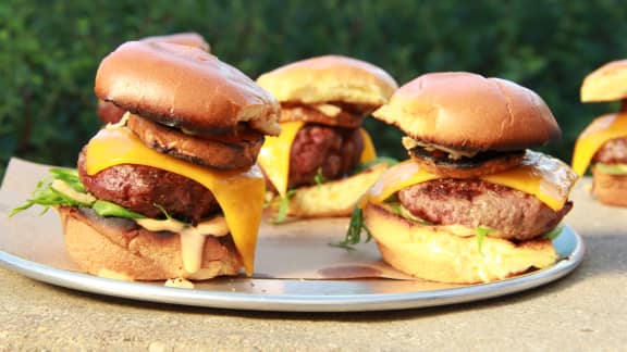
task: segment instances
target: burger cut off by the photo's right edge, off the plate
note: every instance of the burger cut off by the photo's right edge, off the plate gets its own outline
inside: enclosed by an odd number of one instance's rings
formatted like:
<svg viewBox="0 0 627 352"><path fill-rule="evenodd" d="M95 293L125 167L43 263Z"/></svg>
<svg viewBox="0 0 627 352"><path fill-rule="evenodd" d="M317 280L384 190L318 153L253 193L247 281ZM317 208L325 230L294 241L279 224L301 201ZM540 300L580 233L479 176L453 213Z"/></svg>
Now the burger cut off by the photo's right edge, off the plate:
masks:
<svg viewBox="0 0 627 352"><path fill-rule="evenodd" d="M627 206L627 60L610 62L583 79L582 102L622 101L617 113L595 118L579 136L573 168L592 169L592 194L608 205Z"/></svg>

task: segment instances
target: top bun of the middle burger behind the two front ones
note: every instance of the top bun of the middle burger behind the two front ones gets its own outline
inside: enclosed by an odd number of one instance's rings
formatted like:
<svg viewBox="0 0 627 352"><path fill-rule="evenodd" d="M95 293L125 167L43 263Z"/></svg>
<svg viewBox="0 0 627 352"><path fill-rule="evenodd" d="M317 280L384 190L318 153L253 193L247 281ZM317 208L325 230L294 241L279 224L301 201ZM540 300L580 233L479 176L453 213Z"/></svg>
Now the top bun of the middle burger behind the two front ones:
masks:
<svg viewBox="0 0 627 352"><path fill-rule="evenodd" d="M397 85L385 71L340 55L297 61L261 75L257 83L281 102L381 105Z"/></svg>

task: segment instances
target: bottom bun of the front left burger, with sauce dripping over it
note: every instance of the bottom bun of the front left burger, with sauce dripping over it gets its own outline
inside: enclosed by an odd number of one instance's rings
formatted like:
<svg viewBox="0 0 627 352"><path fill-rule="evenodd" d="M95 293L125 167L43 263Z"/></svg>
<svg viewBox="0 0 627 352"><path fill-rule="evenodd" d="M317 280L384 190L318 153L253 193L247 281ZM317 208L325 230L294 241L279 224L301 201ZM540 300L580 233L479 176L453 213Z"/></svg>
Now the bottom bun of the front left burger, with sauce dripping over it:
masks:
<svg viewBox="0 0 627 352"><path fill-rule="evenodd" d="M65 248L89 274L134 280L208 279L237 275L242 260L230 236L207 236L200 269L183 268L179 234L152 232L125 218L101 217L83 208L58 206Z"/></svg>

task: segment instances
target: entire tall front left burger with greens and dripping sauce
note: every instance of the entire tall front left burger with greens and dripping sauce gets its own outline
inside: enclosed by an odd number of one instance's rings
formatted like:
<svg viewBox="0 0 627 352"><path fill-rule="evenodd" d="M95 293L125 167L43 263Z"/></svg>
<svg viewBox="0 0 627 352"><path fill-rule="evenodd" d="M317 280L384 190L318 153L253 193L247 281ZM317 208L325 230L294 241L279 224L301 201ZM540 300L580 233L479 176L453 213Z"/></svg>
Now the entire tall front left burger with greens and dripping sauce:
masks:
<svg viewBox="0 0 627 352"><path fill-rule="evenodd" d="M24 208L53 205L69 254L95 275L250 275L265 197L255 162L279 135L276 101L208 52L159 41L110 53L95 91L124 118Z"/></svg>

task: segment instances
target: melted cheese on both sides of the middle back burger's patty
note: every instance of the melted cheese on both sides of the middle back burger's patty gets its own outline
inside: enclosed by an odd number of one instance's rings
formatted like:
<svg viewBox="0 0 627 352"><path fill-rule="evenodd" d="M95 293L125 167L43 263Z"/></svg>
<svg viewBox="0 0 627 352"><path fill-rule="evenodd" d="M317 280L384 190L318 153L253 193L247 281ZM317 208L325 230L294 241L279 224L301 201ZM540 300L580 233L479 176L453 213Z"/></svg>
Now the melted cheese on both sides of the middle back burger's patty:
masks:
<svg viewBox="0 0 627 352"><path fill-rule="evenodd" d="M261 165L263 173L266 173L266 177L272 183L281 197L285 197L287 193L290 153L294 139L303 126L305 126L305 122L303 121L281 123L281 135L278 137L266 137L263 147L259 152L259 158L257 158L259 165ZM377 158L377 152L374 151L372 139L366 129L360 128L359 133L364 140L364 151L361 152L359 161L367 163Z"/></svg>

